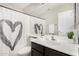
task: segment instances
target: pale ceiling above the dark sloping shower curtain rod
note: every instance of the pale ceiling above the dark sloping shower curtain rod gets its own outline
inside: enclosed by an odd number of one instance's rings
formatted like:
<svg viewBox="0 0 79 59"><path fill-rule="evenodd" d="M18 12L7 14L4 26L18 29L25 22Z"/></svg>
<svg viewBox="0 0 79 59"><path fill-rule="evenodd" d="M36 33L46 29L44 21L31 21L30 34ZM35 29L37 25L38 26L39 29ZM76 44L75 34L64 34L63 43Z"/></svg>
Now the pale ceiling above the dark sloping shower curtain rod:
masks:
<svg viewBox="0 0 79 59"><path fill-rule="evenodd" d="M43 19L50 19L54 11L58 10L56 8L70 5L70 3L0 3L0 5Z"/></svg>

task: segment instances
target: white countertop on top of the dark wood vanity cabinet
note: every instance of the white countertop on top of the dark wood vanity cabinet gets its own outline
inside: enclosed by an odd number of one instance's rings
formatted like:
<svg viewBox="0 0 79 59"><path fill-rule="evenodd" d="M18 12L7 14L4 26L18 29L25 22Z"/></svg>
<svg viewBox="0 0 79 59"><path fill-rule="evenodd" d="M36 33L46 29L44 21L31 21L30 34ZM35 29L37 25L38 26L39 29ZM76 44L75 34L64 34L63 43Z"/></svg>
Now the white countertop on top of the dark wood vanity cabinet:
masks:
<svg viewBox="0 0 79 59"><path fill-rule="evenodd" d="M45 40L45 39L32 39L31 42L35 42L46 46L51 49L55 49L57 51L72 55L78 56L78 45L77 44L66 44L66 43L59 43L52 40Z"/></svg>

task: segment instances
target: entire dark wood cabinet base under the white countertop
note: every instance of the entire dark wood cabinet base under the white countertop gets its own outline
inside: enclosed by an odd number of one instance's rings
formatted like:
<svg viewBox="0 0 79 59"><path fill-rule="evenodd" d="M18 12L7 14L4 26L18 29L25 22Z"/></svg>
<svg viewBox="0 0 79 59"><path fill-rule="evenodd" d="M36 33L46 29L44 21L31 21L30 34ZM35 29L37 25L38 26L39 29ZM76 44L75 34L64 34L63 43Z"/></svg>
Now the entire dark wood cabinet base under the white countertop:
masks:
<svg viewBox="0 0 79 59"><path fill-rule="evenodd" d="M40 44L31 42L31 55L32 56L70 56L66 53L42 46Z"/></svg>

